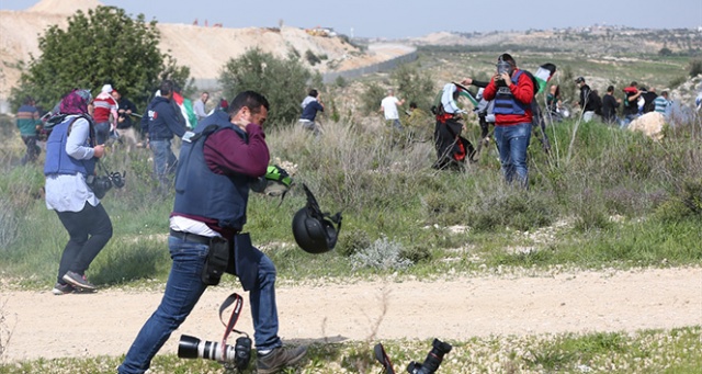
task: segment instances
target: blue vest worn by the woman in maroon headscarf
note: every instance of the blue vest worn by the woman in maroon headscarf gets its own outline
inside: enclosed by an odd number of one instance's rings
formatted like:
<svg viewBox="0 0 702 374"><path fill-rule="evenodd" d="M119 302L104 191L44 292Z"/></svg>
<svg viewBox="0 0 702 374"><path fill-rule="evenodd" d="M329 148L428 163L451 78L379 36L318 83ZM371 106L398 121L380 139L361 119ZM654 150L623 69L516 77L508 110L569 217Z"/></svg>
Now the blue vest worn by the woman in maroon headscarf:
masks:
<svg viewBox="0 0 702 374"><path fill-rule="evenodd" d="M64 120L60 124L54 126L52 134L46 140L46 161L44 162L44 175L48 174L77 174L91 175L95 173L95 158L89 160L77 160L66 152L66 141L68 140L68 126L78 121L80 117L70 116ZM92 123L89 118L83 120ZM92 131L91 136L86 139L83 144L86 147L92 146Z"/></svg>

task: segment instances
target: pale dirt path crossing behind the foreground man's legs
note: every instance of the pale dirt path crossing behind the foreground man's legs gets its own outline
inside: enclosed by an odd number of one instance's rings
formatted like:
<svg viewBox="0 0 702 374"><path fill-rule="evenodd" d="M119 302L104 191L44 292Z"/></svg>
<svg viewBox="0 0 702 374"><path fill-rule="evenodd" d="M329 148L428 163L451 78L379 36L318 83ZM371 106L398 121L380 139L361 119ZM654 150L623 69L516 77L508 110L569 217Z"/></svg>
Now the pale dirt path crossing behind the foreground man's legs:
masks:
<svg viewBox="0 0 702 374"><path fill-rule="evenodd" d="M176 352L181 333L219 340L217 309L230 291L208 290L161 352ZM13 329L5 359L120 355L160 297L114 290L64 296L2 291L2 314ZM702 325L702 269L281 286L278 302L284 340L365 340L380 318L373 341L633 331ZM237 327L252 332L248 299Z"/></svg>

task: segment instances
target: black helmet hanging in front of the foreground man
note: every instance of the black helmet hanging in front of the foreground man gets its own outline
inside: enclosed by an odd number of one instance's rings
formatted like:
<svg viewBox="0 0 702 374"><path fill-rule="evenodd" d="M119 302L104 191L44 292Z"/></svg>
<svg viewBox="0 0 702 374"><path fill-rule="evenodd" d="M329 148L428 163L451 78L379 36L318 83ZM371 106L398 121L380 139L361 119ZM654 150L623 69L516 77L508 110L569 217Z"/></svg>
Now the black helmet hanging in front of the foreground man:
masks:
<svg viewBox="0 0 702 374"><path fill-rule="evenodd" d="M308 253L324 253L333 249L341 230L341 212L330 216L321 213L317 200L307 185L307 205L293 217L293 236L299 248ZM335 227L335 224L337 225Z"/></svg>

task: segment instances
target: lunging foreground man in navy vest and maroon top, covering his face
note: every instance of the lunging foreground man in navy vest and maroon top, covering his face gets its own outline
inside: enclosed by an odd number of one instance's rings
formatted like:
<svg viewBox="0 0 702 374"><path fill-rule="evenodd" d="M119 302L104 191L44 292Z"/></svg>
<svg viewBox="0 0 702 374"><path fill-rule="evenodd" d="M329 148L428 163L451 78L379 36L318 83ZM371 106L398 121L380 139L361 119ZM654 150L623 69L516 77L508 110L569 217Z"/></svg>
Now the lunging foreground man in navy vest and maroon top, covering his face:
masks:
<svg viewBox="0 0 702 374"><path fill-rule="evenodd" d="M236 273L249 291L258 373L275 373L304 358L306 348L284 349L278 336L273 262L251 246L247 234L240 234L250 184L265 174L270 160L262 128L268 110L263 95L241 92L228 111L215 111L183 136L168 239L173 264L161 304L132 343L118 373L146 372L223 271Z"/></svg>

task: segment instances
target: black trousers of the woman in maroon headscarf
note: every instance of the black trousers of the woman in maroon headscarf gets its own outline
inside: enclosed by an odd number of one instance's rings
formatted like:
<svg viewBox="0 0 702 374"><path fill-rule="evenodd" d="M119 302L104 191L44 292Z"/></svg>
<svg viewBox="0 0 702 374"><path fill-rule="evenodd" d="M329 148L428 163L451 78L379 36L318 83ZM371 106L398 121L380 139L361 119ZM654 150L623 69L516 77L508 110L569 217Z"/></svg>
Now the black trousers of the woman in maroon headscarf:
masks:
<svg viewBox="0 0 702 374"><path fill-rule="evenodd" d="M80 212L56 212L69 239L58 265L58 282L68 271L83 275L92 260L112 238L112 222L102 204L86 203Z"/></svg>

